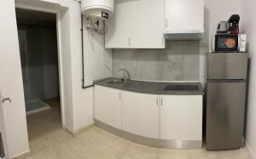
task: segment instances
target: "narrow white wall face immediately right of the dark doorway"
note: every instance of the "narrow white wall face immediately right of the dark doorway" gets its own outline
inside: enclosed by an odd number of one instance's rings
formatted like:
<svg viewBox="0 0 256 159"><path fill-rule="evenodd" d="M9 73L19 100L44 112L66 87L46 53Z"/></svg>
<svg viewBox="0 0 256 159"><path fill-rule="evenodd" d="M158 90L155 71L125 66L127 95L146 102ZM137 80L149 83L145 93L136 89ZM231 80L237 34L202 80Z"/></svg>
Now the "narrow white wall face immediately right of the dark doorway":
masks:
<svg viewBox="0 0 256 159"><path fill-rule="evenodd" d="M72 89L72 68L71 68L71 43L70 43L70 15L69 10L65 10L62 14L59 14L59 63L62 68L59 70L61 77L61 113L62 113L62 125L69 131L73 131L73 89ZM64 116L63 116L64 114Z"/></svg>

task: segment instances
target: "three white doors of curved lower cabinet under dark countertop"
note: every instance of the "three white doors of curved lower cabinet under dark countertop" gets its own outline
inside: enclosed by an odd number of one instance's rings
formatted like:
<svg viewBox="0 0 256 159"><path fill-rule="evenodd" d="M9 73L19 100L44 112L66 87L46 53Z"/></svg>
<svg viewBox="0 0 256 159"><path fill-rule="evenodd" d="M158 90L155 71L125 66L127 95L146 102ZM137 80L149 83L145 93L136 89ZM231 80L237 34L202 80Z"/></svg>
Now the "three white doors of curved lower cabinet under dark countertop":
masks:
<svg viewBox="0 0 256 159"><path fill-rule="evenodd" d="M95 118L151 139L201 141L202 95L156 95L95 86Z"/></svg>

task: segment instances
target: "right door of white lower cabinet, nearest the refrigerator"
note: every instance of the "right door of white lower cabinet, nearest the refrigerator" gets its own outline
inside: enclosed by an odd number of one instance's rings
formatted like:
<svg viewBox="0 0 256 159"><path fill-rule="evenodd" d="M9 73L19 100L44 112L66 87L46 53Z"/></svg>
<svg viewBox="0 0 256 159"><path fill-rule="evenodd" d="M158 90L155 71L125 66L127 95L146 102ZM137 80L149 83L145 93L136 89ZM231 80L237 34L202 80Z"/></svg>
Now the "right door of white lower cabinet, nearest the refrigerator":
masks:
<svg viewBox="0 0 256 159"><path fill-rule="evenodd" d="M202 139L202 95L163 95L160 139Z"/></svg>

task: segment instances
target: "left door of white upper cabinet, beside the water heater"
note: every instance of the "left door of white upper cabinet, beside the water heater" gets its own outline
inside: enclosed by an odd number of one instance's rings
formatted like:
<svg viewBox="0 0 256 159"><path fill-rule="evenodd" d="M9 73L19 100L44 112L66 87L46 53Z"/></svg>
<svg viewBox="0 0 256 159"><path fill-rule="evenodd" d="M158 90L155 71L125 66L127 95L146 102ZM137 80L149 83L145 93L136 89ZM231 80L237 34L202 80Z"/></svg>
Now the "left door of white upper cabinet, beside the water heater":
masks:
<svg viewBox="0 0 256 159"><path fill-rule="evenodd" d="M130 48L131 2L115 1L114 14L106 20L105 48Z"/></svg>

